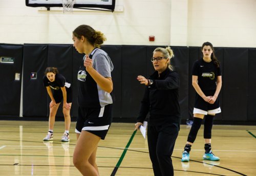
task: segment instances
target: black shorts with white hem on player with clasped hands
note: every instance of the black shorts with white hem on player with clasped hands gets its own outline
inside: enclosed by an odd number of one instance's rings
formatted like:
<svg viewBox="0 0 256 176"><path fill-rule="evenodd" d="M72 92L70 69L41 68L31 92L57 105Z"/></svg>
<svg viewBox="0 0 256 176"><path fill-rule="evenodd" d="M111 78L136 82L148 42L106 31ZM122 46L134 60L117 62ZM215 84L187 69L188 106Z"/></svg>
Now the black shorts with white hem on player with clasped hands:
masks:
<svg viewBox="0 0 256 176"><path fill-rule="evenodd" d="M205 96L214 96L215 91L204 91ZM196 102L194 106L193 114L218 114L221 113L220 103L219 103L219 96L217 97L214 104L210 104L204 99L196 94Z"/></svg>

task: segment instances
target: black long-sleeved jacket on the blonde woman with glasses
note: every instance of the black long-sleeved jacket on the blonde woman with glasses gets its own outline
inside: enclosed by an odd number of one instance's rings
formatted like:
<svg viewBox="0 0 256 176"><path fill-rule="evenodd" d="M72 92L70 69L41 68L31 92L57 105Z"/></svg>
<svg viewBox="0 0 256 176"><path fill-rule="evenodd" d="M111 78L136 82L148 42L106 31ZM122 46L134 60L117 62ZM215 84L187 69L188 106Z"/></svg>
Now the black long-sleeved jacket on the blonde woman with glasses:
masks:
<svg viewBox="0 0 256 176"><path fill-rule="evenodd" d="M143 123L148 112L148 125L162 125L164 123L179 123L181 121L179 105L179 75L168 68L159 74L154 72L149 79L154 83L146 86L137 122Z"/></svg>

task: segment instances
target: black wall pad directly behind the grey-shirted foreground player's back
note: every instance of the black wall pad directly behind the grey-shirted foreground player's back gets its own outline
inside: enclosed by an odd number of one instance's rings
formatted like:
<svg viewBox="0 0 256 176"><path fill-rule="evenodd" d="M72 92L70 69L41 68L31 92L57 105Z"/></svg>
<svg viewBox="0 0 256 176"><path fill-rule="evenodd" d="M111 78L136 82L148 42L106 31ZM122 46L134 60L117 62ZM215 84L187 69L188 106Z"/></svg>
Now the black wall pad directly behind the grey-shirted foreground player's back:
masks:
<svg viewBox="0 0 256 176"><path fill-rule="evenodd" d="M112 72L113 81L113 117L121 117L121 90L122 90L122 47L121 46L102 46L101 49L104 50L110 56L114 70Z"/></svg>

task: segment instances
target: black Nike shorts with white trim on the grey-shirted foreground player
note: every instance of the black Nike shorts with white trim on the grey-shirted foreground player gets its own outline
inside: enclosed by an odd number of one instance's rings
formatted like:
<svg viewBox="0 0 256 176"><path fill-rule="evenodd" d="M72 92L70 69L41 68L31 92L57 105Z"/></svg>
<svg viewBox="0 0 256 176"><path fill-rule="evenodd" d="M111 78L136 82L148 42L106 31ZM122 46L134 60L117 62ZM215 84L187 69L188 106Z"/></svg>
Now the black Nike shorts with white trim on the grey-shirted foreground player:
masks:
<svg viewBox="0 0 256 176"><path fill-rule="evenodd" d="M88 131L101 139L105 139L112 122L112 104L101 108L78 107L76 133Z"/></svg>

